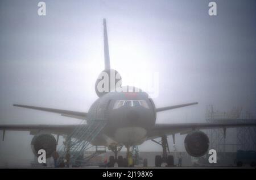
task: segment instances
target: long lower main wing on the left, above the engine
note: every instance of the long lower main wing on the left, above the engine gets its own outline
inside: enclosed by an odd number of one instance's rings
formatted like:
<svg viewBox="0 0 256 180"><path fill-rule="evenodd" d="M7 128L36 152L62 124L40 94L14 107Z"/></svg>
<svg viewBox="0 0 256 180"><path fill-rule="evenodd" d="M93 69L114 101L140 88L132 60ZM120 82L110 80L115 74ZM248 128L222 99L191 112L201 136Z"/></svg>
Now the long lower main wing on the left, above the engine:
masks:
<svg viewBox="0 0 256 180"><path fill-rule="evenodd" d="M70 125L49 125L49 124L0 124L3 131L30 131L31 135L38 132L54 133L56 135L68 135L78 124Z"/></svg>

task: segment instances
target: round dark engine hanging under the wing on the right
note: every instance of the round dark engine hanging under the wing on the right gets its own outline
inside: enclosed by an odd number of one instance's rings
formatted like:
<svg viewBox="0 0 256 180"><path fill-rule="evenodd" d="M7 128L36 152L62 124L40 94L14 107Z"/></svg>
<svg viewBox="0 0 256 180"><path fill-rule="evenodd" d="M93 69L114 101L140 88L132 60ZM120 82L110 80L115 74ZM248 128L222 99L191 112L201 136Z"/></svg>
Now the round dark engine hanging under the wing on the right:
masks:
<svg viewBox="0 0 256 180"><path fill-rule="evenodd" d="M190 156L200 157L208 151L209 138L202 131L193 131L185 137L184 144Z"/></svg>

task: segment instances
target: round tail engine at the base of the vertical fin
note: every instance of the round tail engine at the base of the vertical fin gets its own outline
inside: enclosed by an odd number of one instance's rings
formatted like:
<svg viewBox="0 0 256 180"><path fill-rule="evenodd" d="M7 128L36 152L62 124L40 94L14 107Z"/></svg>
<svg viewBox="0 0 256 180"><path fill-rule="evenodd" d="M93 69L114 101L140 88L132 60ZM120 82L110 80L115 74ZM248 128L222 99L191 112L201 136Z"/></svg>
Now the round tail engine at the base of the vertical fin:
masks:
<svg viewBox="0 0 256 180"><path fill-rule="evenodd" d="M114 69L107 69L100 73L95 83L95 91L98 97L115 90L117 87L121 87L122 77Z"/></svg>

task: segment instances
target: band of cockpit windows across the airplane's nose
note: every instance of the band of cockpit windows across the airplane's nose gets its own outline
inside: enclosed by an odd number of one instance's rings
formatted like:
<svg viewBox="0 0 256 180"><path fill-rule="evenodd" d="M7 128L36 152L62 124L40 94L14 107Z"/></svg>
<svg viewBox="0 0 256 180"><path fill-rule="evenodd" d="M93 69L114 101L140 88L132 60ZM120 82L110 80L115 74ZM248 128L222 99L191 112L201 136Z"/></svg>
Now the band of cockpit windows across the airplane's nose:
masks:
<svg viewBox="0 0 256 180"><path fill-rule="evenodd" d="M130 106L130 107L139 107L142 106L144 108L148 108L148 104L145 100L128 100L128 101L123 101L123 100L117 100L114 104L113 109L118 109L122 106Z"/></svg>

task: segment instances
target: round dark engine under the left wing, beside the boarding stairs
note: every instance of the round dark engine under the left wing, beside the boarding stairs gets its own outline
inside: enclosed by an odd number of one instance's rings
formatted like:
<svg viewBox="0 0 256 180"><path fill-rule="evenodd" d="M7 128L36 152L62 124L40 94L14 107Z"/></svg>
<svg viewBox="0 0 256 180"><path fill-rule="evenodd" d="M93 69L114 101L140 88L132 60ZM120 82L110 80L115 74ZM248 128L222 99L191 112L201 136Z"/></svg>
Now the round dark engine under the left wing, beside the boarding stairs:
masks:
<svg viewBox="0 0 256 180"><path fill-rule="evenodd" d="M38 150L46 150L46 158L51 157L52 153L56 150L57 141L51 134L38 134L35 135L31 141L31 148L35 156L39 156Z"/></svg>

